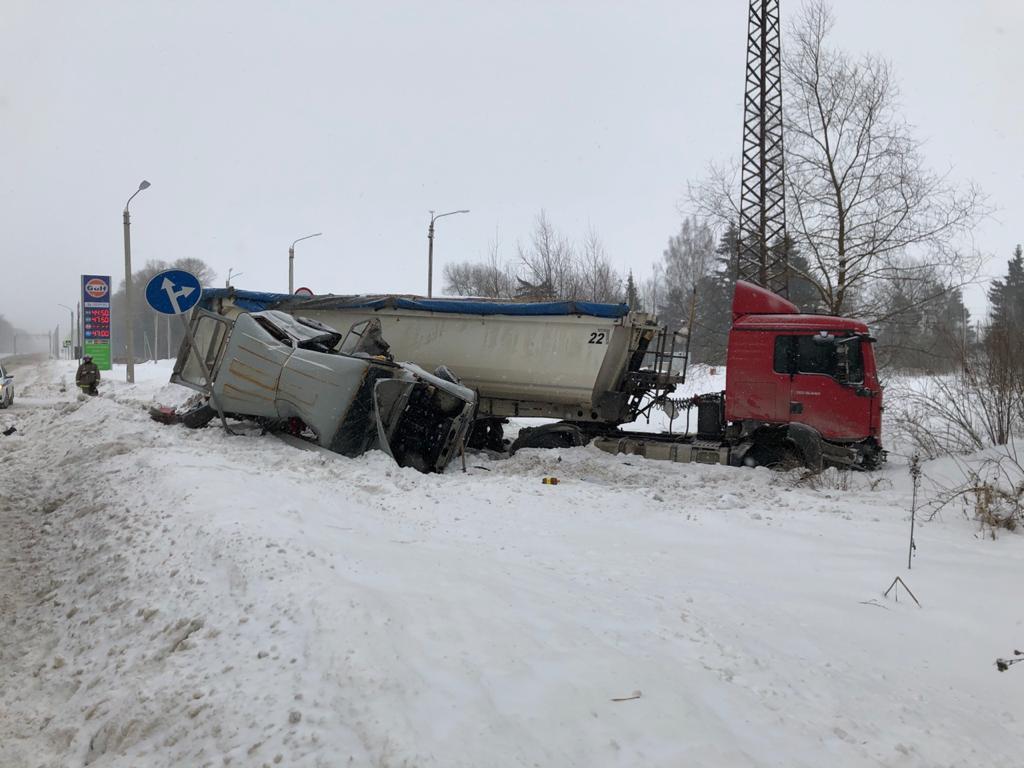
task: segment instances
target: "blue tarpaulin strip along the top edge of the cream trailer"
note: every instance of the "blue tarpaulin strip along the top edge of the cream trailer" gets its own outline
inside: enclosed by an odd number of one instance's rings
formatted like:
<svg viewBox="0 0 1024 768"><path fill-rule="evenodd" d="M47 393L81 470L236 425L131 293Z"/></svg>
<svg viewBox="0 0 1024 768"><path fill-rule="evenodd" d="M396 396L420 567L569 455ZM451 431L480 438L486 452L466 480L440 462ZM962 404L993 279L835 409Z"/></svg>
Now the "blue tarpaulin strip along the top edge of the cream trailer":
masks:
<svg viewBox="0 0 1024 768"><path fill-rule="evenodd" d="M625 317L629 304L601 304L594 301L541 301L515 302L488 299L425 299L419 296L314 296L304 298L287 293L241 291L236 288L208 288L203 290L202 305L209 308L214 299L231 299L238 306L251 312L264 309L303 307L306 309L416 309L424 312L453 314L513 314L513 315L566 315L582 314L591 317Z"/></svg>

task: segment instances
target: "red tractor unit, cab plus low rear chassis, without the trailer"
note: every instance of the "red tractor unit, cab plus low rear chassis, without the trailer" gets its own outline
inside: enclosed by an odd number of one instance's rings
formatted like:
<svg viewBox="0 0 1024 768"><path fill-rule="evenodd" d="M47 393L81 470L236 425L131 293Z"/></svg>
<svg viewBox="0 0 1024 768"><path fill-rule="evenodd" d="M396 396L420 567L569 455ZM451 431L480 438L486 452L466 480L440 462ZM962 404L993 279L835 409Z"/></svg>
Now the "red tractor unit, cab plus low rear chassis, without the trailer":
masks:
<svg viewBox="0 0 1024 768"><path fill-rule="evenodd" d="M696 409L696 434L620 431L595 444L677 462L873 469L886 455L872 342L863 323L802 314L782 297L740 281L725 391L673 401Z"/></svg>

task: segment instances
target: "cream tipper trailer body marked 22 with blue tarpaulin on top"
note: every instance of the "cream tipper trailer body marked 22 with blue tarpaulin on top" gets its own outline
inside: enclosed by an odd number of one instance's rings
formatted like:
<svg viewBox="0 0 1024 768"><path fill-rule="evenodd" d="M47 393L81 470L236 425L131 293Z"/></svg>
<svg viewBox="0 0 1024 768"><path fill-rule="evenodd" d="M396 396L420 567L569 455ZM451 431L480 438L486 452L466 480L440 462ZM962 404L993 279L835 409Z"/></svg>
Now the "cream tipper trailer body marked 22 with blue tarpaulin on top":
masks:
<svg viewBox="0 0 1024 768"><path fill-rule="evenodd" d="M621 424L635 418L650 387L671 391L683 366L636 376L659 331L622 304L509 303L409 297L315 297L207 291L226 315L275 307L338 329L376 319L391 353L433 369L444 365L478 395L478 418L540 417Z"/></svg>

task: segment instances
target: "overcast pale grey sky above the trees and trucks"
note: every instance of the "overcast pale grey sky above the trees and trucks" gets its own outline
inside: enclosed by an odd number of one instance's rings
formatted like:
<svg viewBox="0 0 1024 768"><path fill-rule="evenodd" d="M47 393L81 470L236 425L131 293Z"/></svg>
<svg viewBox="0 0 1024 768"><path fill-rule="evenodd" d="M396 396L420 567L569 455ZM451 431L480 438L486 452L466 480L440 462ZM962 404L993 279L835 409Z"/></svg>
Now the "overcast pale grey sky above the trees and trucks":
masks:
<svg viewBox="0 0 1024 768"><path fill-rule="evenodd" d="M783 16L797 0L782 0ZM836 42L890 58L936 168L1024 240L1020 0L836 0ZM688 179L738 154L746 0L0 4L0 313L66 322L78 275L196 256L222 285L426 292L512 257L542 208L647 274ZM975 301L981 296L977 292Z"/></svg>

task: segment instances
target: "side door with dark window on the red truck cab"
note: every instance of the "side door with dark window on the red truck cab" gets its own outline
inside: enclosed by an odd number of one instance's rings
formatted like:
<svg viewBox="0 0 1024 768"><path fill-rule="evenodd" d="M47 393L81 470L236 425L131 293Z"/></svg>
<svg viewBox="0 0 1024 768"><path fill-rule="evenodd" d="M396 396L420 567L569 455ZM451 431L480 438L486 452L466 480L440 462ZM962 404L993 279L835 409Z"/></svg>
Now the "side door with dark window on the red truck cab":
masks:
<svg viewBox="0 0 1024 768"><path fill-rule="evenodd" d="M864 387L858 337L779 336L774 367L780 366L791 373L790 421L829 439L860 440L872 434L872 398Z"/></svg>

